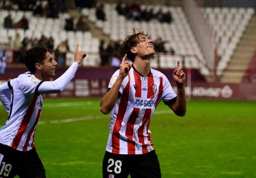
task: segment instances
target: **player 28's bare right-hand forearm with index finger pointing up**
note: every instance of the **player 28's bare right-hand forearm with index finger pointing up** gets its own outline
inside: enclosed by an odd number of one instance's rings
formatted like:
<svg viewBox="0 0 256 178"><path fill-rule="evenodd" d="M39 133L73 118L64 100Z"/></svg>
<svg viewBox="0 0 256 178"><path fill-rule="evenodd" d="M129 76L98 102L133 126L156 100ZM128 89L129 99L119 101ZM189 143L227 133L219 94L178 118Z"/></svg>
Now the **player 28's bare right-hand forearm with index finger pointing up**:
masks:
<svg viewBox="0 0 256 178"><path fill-rule="evenodd" d="M179 61L177 62L177 68L174 70L173 78L177 85L177 98L173 104L168 104L168 106L177 116L184 116L187 111L187 99L184 84L185 73L181 66L179 66Z"/></svg>

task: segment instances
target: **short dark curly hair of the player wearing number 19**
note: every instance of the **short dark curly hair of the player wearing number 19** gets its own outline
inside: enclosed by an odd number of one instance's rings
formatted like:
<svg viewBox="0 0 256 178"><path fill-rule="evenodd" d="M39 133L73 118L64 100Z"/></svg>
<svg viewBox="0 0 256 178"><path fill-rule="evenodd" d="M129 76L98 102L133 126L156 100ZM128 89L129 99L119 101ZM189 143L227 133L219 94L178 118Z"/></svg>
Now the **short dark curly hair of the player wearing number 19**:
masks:
<svg viewBox="0 0 256 178"><path fill-rule="evenodd" d="M45 46L34 46L24 53L24 63L31 73L36 72L36 63L43 64L47 51Z"/></svg>

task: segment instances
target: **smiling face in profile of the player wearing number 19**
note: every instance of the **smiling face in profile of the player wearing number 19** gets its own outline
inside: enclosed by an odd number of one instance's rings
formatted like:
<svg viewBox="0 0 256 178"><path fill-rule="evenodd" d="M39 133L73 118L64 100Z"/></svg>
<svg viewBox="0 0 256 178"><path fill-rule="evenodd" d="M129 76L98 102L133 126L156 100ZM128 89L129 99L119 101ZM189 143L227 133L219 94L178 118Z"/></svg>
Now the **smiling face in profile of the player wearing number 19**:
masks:
<svg viewBox="0 0 256 178"><path fill-rule="evenodd" d="M52 59L52 56L49 52L46 53L46 58L44 59L44 63L41 64L42 70L41 75L44 78L47 78L49 76L55 76L55 69L57 66L57 62Z"/></svg>

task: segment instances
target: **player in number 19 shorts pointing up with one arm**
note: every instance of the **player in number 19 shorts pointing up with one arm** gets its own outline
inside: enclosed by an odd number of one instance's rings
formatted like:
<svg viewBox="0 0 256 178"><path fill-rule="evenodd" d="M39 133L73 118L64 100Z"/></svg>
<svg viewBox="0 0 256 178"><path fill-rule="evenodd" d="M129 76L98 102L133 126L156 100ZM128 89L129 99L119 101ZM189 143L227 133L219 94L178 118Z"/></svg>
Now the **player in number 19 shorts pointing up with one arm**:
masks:
<svg viewBox="0 0 256 178"><path fill-rule="evenodd" d="M46 81L55 76L57 62L45 47L32 47L24 54L28 71L0 85L0 99L8 112L0 128L0 178L46 178L34 144L36 126L45 94L63 91L86 56L78 48L77 44L74 62L67 71L55 81Z"/></svg>

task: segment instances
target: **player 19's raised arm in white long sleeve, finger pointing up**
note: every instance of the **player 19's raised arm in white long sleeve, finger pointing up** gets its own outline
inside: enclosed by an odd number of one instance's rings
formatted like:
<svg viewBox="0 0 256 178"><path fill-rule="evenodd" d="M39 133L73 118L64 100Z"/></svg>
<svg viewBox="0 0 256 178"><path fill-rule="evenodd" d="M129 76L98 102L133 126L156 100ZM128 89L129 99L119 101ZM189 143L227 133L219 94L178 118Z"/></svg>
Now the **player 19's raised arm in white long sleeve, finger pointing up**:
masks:
<svg viewBox="0 0 256 178"><path fill-rule="evenodd" d="M78 47L79 45L77 44L74 54L74 62L67 69L67 71L55 81L41 81L36 88L37 94L59 93L64 90L64 88L75 76L75 73L78 69L79 64L82 62L83 57L86 56L86 53L84 51L78 51Z"/></svg>

